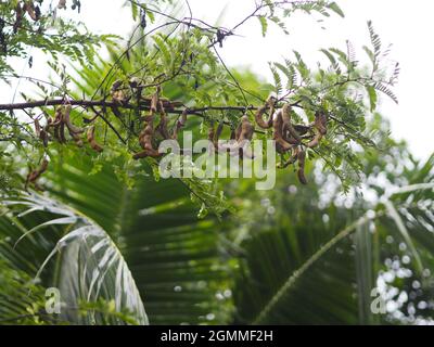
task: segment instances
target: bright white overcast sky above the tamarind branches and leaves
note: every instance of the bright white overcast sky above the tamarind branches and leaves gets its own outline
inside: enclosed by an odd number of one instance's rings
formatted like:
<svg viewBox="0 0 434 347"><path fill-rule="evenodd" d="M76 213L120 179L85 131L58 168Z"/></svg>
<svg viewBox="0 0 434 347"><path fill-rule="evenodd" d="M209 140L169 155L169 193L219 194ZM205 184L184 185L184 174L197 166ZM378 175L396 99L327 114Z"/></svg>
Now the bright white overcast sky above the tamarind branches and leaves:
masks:
<svg viewBox="0 0 434 347"><path fill-rule="evenodd" d="M179 0L182 2L182 0ZM55 3L55 1L53 1ZM71 2L71 1L69 1ZM124 0L82 0L80 20L99 33L126 36L131 28L130 11L122 9ZM400 63L401 74L395 88L399 105L384 98L382 113L391 119L392 136L408 141L413 154L426 158L434 152L434 117L431 85L434 82L433 43L429 33L434 33L434 1L430 0L337 0L345 18L333 15L322 17L322 25L307 15L288 21L291 35L269 28L265 39L256 18L228 38L219 52L229 66L251 66L259 75L269 77L268 62L281 61L297 50L308 64L315 67L323 55L320 48L344 48L349 39L357 57L363 62L363 44L369 44L367 21L372 20L383 46L393 43L391 59ZM226 8L220 25L232 27L255 7L254 0L190 0L193 16L216 23ZM180 14L181 15L181 14ZM317 16L317 18L321 18ZM326 30L321 29L326 26ZM42 62L40 62L42 63ZM25 64L23 64L25 66ZM37 75L43 74L43 65ZM26 67L24 67L26 69ZM34 68L35 69L35 68ZM18 68L20 70L20 68ZM35 70L27 72L35 75ZM43 76L43 75L41 75Z"/></svg>

